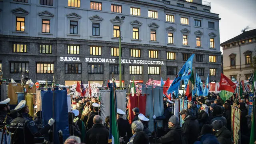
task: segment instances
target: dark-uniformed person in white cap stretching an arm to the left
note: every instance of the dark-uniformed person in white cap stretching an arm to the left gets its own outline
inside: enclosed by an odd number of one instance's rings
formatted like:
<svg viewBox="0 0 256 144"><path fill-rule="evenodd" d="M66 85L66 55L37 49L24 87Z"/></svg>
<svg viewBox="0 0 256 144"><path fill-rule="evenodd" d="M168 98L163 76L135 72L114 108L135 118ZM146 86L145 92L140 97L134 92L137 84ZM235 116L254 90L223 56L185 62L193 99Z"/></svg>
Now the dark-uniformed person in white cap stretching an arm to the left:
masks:
<svg viewBox="0 0 256 144"><path fill-rule="evenodd" d="M153 116L153 119L163 121L163 130L164 130L165 134L169 131L168 130L168 120L173 115L172 114L172 104L174 104L174 102L172 102L168 99L167 107L164 109L164 114L162 116L157 116L157 117Z"/></svg>

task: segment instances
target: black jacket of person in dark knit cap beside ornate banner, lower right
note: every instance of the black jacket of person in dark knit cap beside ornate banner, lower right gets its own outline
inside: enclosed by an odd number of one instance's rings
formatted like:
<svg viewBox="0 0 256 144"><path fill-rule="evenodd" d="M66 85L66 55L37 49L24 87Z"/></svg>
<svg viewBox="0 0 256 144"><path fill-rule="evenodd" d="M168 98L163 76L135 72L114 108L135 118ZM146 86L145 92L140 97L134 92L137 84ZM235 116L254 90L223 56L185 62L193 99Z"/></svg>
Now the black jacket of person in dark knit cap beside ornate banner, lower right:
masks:
<svg viewBox="0 0 256 144"><path fill-rule="evenodd" d="M220 144L231 144L231 132L223 126L218 132L216 132L215 136L217 137Z"/></svg>

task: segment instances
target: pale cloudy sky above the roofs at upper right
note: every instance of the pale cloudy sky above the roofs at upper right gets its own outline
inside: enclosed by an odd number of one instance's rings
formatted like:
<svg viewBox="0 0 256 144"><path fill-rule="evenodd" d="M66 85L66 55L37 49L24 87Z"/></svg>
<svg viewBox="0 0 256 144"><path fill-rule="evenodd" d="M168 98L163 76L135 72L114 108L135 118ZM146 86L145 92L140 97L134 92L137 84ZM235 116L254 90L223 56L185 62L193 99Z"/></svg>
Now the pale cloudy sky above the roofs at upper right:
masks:
<svg viewBox="0 0 256 144"><path fill-rule="evenodd" d="M256 28L256 0L204 0L211 2L211 12L219 14L220 43ZM246 31L248 31L246 30ZM222 52L222 47L220 47Z"/></svg>

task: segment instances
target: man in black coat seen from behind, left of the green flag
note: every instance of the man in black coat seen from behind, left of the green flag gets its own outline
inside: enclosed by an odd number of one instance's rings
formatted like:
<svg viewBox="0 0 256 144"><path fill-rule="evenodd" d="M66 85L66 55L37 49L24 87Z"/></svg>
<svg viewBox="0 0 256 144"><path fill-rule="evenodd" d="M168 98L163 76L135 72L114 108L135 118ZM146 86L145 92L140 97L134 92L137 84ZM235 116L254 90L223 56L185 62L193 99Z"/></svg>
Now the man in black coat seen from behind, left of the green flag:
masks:
<svg viewBox="0 0 256 144"><path fill-rule="evenodd" d="M108 129L102 125L101 116L95 115L92 128L85 134L86 144L108 144L108 133Z"/></svg>

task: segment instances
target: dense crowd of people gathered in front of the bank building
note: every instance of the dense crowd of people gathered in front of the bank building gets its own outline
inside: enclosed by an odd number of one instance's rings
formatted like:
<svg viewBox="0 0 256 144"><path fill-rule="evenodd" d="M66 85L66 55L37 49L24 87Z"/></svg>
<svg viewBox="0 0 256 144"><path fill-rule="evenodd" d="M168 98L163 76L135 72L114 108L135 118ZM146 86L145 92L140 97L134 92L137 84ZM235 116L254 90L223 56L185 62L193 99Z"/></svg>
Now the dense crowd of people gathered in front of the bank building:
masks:
<svg viewBox="0 0 256 144"><path fill-rule="evenodd" d="M180 96L179 98L184 98ZM188 107L179 112L184 123L174 115L174 100L164 98L164 114L153 116L154 121L162 121L163 126L154 132L148 129L149 118L140 113L139 108L132 108L132 124L124 117L126 112L117 109L119 140L122 144L149 144L155 138L162 144L231 144L231 105L241 110L240 133L241 143L250 140L251 120L248 116L248 96L245 94L239 101L231 97L225 102L218 94L194 96ZM185 99L185 98L184 98ZM8 125L13 133L13 144L39 144L52 140L49 134L55 120L50 119L47 125L42 124L42 112L32 117L26 101L22 100L14 110L10 110L10 98L0 102L0 127ZM102 122L100 100L98 98L72 99L72 112L68 112L70 137L64 144L108 144L110 117Z"/></svg>

